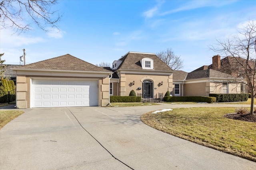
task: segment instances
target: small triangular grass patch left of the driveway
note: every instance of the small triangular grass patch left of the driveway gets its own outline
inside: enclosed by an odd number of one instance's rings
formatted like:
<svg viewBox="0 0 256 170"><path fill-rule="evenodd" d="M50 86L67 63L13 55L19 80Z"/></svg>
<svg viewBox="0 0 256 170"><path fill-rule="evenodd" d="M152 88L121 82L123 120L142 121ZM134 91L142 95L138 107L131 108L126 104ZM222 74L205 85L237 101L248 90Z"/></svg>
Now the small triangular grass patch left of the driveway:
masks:
<svg viewBox="0 0 256 170"><path fill-rule="evenodd" d="M20 110L0 110L0 129L4 127L8 122L12 121L19 115L24 113Z"/></svg>

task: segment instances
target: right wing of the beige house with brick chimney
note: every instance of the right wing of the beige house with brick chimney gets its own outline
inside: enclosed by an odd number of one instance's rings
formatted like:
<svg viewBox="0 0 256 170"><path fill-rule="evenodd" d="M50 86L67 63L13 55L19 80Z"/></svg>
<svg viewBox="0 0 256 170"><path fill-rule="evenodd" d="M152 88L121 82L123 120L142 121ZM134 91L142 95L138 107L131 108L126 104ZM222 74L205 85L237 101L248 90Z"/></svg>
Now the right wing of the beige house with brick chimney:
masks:
<svg viewBox="0 0 256 170"><path fill-rule="evenodd" d="M236 82L234 75L218 71L220 56L212 58L213 64L202 66L192 72L174 70L173 96L209 96L214 94L237 94L244 92L244 84Z"/></svg>

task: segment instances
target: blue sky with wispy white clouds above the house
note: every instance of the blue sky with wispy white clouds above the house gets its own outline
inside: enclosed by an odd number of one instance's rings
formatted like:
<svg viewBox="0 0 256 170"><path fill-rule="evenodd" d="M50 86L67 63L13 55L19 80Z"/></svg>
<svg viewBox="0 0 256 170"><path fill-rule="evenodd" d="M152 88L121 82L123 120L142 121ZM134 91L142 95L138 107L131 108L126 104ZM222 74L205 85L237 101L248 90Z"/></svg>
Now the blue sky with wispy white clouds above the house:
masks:
<svg viewBox="0 0 256 170"><path fill-rule="evenodd" d="M209 49L241 25L256 20L256 1L82 1L60 0L60 31L0 31L6 64L26 64L70 54L92 64L111 63L128 51L156 53L172 48L182 70L212 63Z"/></svg>

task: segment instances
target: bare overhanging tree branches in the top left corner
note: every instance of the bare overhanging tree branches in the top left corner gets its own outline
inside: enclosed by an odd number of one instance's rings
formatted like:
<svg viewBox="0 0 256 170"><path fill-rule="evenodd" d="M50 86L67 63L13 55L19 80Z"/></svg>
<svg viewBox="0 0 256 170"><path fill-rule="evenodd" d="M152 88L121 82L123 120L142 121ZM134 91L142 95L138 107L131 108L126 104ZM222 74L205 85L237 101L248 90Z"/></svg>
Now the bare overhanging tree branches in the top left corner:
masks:
<svg viewBox="0 0 256 170"><path fill-rule="evenodd" d="M44 31L57 27L61 16L53 10L57 0L2 0L0 3L0 26L11 27L15 32L32 29L31 22Z"/></svg>

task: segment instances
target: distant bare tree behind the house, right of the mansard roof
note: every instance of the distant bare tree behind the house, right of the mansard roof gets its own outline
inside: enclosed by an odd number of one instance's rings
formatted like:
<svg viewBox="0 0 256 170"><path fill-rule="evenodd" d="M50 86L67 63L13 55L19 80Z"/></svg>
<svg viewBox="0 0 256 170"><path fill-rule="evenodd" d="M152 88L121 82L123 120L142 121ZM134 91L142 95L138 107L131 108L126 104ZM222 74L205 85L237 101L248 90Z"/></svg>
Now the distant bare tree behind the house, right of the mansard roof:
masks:
<svg viewBox="0 0 256 170"><path fill-rule="evenodd" d="M156 53L156 56L172 68L172 70L183 68L183 60L180 59L180 56L175 55L171 48Z"/></svg>

